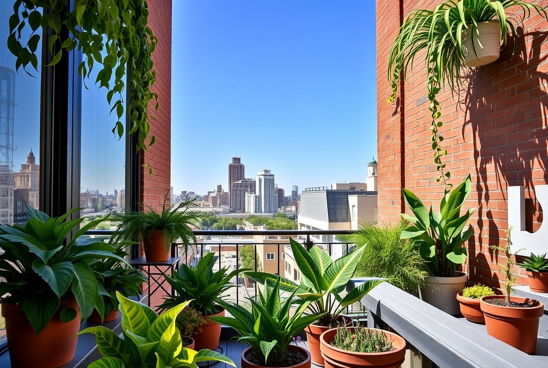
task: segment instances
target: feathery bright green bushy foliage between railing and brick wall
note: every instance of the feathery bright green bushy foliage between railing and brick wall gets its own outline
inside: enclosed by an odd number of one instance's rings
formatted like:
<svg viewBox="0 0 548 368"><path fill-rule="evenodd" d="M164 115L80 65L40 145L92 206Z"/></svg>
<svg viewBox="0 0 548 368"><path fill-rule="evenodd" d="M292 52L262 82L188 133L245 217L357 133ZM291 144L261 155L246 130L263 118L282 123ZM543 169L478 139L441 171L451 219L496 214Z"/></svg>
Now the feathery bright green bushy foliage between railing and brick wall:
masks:
<svg viewBox="0 0 548 368"><path fill-rule="evenodd" d="M416 294L426 276L425 261L414 241L399 237L407 226L403 220L397 226L382 227L363 222L356 232L346 235L345 241L365 248L354 276L387 278L392 285Z"/></svg>

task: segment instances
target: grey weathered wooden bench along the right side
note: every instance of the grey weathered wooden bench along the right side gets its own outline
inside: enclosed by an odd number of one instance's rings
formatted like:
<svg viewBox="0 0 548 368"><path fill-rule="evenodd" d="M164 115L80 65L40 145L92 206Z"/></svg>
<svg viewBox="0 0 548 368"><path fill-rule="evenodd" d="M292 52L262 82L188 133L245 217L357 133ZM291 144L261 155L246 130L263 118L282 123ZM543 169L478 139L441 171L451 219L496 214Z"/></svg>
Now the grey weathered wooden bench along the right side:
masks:
<svg viewBox="0 0 548 368"><path fill-rule="evenodd" d="M368 309L368 326L390 326L441 368L548 367L548 296L519 286L516 294L545 305L535 355L489 336L484 325L453 317L389 283L376 286L361 302Z"/></svg>

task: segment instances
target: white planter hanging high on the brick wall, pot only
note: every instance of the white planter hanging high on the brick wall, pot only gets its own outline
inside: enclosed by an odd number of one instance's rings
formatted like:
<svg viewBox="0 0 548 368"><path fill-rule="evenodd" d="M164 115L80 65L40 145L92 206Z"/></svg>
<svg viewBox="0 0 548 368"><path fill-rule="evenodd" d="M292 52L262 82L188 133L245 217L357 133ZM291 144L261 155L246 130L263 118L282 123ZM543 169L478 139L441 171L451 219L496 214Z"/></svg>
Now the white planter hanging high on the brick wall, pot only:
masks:
<svg viewBox="0 0 548 368"><path fill-rule="evenodd" d="M477 32L472 27L463 28L463 53L468 66L487 65L500 56L499 22L478 23Z"/></svg>

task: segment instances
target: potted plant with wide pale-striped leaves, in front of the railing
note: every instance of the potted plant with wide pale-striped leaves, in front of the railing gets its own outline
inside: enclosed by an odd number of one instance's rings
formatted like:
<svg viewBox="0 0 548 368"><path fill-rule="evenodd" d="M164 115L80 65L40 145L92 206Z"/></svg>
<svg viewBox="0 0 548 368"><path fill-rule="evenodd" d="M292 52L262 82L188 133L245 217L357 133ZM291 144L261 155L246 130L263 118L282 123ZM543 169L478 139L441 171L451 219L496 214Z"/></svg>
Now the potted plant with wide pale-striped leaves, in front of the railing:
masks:
<svg viewBox="0 0 548 368"><path fill-rule="evenodd" d="M341 313L353 302L359 301L373 287L385 281L383 278L372 278L357 286L344 297L339 294L344 290L348 281L356 271L364 247L333 261L321 248L312 245L306 250L302 245L289 238L295 262L301 272L300 285L293 281L281 278L281 288L285 291L296 292L303 300L310 301L309 311L318 317L315 323L305 328L309 343L312 363L324 365L319 351L319 336L326 330L340 324L352 324L350 318L345 319ZM276 276L265 272L246 272L246 275L265 284L267 280L275 281Z"/></svg>

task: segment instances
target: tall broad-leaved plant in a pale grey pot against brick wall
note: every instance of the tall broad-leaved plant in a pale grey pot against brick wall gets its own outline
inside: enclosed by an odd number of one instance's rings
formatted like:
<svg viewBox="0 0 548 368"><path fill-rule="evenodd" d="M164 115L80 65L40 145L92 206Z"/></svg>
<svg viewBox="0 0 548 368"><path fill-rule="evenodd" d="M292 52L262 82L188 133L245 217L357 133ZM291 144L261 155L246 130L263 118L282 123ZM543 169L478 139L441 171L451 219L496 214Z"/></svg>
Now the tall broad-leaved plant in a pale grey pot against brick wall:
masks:
<svg viewBox="0 0 548 368"><path fill-rule="evenodd" d="M463 291L466 274L458 271L466 261L464 243L472 235L472 226L463 230L476 210L470 208L461 215L461 208L471 190L470 175L452 191L446 191L439 212L430 210L409 189L402 188L403 198L414 216L401 214L411 223L401 233L402 239L413 239L429 276L424 279L421 296L424 301L456 315L460 312L455 295Z"/></svg>

